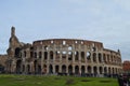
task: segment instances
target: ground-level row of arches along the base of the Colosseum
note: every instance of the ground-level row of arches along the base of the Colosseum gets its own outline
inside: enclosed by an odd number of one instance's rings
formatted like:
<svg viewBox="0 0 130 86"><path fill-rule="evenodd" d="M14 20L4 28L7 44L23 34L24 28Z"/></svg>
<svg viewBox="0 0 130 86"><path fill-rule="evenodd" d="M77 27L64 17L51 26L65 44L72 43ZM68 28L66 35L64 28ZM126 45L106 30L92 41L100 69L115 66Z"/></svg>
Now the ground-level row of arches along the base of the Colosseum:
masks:
<svg viewBox="0 0 130 86"><path fill-rule="evenodd" d="M32 70L34 69L34 70ZM84 74L84 73L93 73L93 74L117 74L119 73L119 69L112 67L96 67L96 66L60 66L60 64L38 64L37 60L34 61L34 66L31 64L23 64L22 60L17 60L16 62L16 73L26 72L26 73L75 73L75 74Z"/></svg>

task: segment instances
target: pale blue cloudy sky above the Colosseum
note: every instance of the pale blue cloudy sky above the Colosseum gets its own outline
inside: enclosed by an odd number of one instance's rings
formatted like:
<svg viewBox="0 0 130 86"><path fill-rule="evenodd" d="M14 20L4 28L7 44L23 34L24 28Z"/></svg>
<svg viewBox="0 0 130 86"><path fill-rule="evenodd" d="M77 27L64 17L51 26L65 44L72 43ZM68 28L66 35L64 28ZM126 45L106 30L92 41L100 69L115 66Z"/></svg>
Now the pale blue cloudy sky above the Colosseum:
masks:
<svg viewBox="0 0 130 86"><path fill-rule="evenodd" d="M12 26L25 43L100 41L130 60L130 0L0 0L0 54L6 53Z"/></svg>

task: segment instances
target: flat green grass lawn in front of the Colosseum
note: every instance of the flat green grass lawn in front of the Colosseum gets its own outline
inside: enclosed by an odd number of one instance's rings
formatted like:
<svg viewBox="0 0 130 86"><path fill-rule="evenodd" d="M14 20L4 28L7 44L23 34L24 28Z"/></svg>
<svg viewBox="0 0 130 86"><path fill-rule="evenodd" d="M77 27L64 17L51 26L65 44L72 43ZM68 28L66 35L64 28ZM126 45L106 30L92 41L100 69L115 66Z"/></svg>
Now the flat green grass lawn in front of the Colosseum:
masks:
<svg viewBox="0 0 130 86"><path fill-rule="evenodd" d="M0 86L118 86L118 83L106 77L0 74Z"/></svg>

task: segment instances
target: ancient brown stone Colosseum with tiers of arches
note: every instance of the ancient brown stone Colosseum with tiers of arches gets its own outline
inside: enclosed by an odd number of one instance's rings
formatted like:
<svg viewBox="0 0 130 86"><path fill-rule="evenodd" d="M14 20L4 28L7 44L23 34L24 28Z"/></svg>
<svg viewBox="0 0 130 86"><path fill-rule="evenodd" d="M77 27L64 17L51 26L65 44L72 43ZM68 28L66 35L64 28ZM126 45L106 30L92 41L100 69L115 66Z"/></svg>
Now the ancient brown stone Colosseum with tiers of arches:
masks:
<svg viewBox="0 0 130 86"><path fill-rule="evenodd" d="M122 72L121 55L103 43L77 39L20 42L11 28L5 71L18 74L114 75Z"/></svg>

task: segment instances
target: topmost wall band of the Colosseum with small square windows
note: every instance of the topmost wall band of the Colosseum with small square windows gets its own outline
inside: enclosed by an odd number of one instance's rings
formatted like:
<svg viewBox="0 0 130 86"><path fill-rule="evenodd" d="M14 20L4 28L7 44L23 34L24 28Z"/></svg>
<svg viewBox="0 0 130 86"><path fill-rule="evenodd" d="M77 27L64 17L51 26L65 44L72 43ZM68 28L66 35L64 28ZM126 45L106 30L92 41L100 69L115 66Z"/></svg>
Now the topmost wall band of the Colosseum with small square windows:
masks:
<svg viewBox="0 0 130 86"><path fill-rule="evenodd" d="M102 51L103 49L103 43L95 42L95 41L87 41L87 40L77 40L77 39L49 39L49 40L39 40L35 41L32 43L34 46L48 46L48 45L63 45L63 46L73 46L78 47L79 45L81 48L84 48L84 46L88 47L88 49L93 51Z"/></svg>

